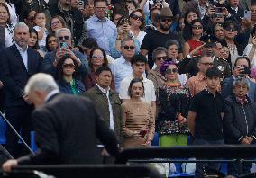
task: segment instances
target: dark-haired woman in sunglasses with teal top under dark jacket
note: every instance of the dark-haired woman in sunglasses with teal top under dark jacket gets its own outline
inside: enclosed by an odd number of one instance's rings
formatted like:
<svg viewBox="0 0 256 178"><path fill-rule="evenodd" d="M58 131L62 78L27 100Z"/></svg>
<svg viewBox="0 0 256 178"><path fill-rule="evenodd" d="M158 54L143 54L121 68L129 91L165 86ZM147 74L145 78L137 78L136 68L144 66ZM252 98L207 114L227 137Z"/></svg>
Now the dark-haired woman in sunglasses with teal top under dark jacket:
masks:
<svg viewBox="0 0 256 178"><path fill-rule="evenodd" d="M84 93L85 86L77 79L78 64L76 60L69 56L64 56L58 62L58 80L59 91L61 93L81 94Z"/></svg>

